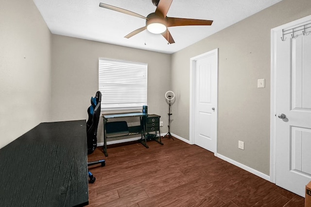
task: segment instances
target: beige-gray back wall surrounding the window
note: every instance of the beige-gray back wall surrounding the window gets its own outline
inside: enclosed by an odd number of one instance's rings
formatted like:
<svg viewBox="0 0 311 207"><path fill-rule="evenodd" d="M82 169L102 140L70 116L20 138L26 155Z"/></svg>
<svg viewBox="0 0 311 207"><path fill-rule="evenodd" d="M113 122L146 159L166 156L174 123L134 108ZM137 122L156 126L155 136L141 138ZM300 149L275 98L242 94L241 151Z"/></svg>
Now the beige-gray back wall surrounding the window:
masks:
<svg viewBox="0 0 311 207"><path fill-rule="evenodd" d="M52 35L52 121L87 119L90 97L98 90L99 57L148 64L148 113L161 116L162 131L166 132L168 105L164 95L170 89L170 54L61 35ZM103 142L103 119L97 137Z"/></svg>

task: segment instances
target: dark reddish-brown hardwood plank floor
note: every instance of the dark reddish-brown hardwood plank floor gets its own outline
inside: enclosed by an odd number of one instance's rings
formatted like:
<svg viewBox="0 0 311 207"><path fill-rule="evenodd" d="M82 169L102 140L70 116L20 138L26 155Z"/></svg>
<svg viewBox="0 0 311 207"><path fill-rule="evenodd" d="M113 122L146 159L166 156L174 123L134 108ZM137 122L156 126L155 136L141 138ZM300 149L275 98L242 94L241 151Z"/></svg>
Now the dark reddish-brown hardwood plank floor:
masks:
<svg viewBox="0 0 311 207"><path fill-rule="evenodd" d="M177 138L102 147L88 161L89 207L304 207L304 198Z"/></svg>

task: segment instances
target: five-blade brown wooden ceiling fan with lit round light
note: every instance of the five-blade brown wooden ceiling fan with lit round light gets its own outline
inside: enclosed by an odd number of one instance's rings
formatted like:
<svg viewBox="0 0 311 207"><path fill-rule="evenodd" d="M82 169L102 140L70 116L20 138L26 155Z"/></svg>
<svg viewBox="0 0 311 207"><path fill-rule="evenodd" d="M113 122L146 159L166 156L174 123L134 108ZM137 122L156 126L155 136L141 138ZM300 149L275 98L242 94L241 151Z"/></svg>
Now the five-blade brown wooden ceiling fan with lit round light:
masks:
<svg viewBox="0 0 311 207"><path fill-rule="evenodd" d="M175 41L168 30L168 27L212 24L212 20L167 17L166 14L171 7L172 1L173 0L152 0L153 4L156 6L156 9L154 13L149 14L147 17L105 3L100 3L99 6L134 17L146 19L146 26L131 32L130 34L124 36L125 38L130 38L147 29L151 33L161 34L168 41L168 43L172 44L175 43Z"/></svg>

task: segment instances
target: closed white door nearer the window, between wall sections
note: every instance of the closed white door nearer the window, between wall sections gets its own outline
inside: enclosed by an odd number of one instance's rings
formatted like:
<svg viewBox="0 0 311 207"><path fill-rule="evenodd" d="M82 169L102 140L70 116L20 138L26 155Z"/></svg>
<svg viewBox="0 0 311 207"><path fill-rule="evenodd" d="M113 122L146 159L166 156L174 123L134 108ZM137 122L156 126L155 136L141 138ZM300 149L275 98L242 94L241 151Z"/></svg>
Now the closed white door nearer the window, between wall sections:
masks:
<svg viewBox="0 0 311 207"><path fill-rule="evenodd" d="M217 73L218 50L194 60L193 129L194 144L217 151Z"/></svg>

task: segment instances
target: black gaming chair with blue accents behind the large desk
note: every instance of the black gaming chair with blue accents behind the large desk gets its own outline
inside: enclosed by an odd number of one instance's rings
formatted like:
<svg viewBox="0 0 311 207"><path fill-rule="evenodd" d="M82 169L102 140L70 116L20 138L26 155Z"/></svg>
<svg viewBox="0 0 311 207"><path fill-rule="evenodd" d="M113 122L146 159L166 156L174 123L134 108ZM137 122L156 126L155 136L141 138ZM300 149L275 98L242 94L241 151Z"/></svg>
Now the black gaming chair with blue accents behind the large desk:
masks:
<svg viewBox="0 0 311 207"><path fill-rule="evenodd" d="M101 116L101 101L102 93L96 92L95 97L91 97L91 105L87 109L88 120L86 121L86 136L87 136L87 155L92 154L97 147L97 128L99 118ZM101 163L105 166L105 160L98 160L93 162L87 162L87 166L96 165ZM89 183L95 182L95 177L88 171Z"/></svg>

